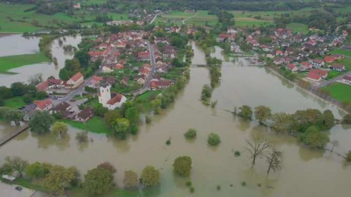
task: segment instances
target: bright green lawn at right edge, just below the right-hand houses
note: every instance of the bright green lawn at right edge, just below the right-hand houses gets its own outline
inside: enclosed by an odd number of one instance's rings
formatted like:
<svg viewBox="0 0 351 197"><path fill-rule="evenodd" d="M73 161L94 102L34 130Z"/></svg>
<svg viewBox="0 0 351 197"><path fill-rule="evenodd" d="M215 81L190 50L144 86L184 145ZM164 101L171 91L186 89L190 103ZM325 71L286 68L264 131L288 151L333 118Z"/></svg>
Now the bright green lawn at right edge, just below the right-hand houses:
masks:
<svg viewBox="0 0 351 197"><path fill-rule="evenodd" d="M333 83L322 87L324 90L330 91L330 96L339 101L351 102L351 85L345 83Z"/></svg>

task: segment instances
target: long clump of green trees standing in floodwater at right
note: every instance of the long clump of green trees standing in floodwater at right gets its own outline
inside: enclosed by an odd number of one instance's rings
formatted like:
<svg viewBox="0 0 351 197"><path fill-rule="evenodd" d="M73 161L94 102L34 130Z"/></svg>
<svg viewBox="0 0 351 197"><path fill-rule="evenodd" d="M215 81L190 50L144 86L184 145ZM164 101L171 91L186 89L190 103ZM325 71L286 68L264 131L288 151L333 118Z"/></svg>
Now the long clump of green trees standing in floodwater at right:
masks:
<svg viewBox="0 0 351 197"><path fill-rule="evenodd" d="M299 138L310 148L324 148L330 141L326 132L335 125L335 118L330 110L323 113L316 109L298 110L294 114L283 112L272 114L269 107L260 105L252 112L251 107L243 105L239 107L239 113L235 114L247 120L255 119L260 124L269 126L277 133L294 134L299 132Z"/></svg>

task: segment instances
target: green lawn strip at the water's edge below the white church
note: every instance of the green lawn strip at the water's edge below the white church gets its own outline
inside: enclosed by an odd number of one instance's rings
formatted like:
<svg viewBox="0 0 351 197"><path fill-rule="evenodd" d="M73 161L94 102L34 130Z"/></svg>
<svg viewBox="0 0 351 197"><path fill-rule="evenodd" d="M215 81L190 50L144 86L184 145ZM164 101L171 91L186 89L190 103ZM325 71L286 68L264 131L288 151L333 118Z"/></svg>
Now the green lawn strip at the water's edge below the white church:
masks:
<svg viewBox="0 0 351 197"><path fill-rule="evenodd" d="M97 134L107 134L108 136L111 134L111 129L108 127L107 123L101 117L93 116L85 123L76 122L72 120L60 120L60 121L65 122L73 127L76 127L82 130L88 129L89 132L93 132Z"/></svg>

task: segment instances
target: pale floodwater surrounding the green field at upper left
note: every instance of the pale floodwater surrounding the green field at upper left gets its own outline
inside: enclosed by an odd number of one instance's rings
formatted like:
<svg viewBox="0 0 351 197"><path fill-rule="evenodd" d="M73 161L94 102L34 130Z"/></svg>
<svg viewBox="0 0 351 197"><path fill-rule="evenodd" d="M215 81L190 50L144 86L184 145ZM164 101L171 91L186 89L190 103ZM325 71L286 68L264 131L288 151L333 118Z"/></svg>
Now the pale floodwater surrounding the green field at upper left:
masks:
<svg viewBox="0 0 351 197"><path fill-rule="evenodd" d="M23 37L22 34L11 34L0 37L0 43L2 43L0 45L0 56L38 53L39 40L40 37ZM27 82L30 76L37 73L42 73L43 79L47 79L50 76L54 76L56 78L59 77L59 71L64 67L65 60L73 58L73 52L65 52L62 47L68 44L77 47L78 43L81 42L82 37L80 35L66 36L66 40L62 39L62 46L59 45L58 40L59 38L55 39L51 45L52 56L57 58L58 65L55 65L53 62L43 62L10 69L10 72L15 72L17 74L0 74L0 84L10 86L11 83L17 81ZM7 44L3 45L3 43ZM16 44L14 45L13 43Z"/></svg>

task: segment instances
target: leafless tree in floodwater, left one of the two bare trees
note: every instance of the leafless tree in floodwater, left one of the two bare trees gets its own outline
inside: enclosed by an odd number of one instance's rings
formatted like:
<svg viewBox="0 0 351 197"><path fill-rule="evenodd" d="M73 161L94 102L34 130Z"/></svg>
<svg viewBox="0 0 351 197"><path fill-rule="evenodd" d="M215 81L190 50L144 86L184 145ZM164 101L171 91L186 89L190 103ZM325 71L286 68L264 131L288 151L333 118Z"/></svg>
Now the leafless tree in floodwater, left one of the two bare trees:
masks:
<svg viewBox="0 0 351 197"><path fill-rule="evenodd" d="M246 150L252 157L252 165L255 166L256 158L263 154L263 151L270 147L270 142L262 135L255 136L253 140L246 140Z"/></svg>

